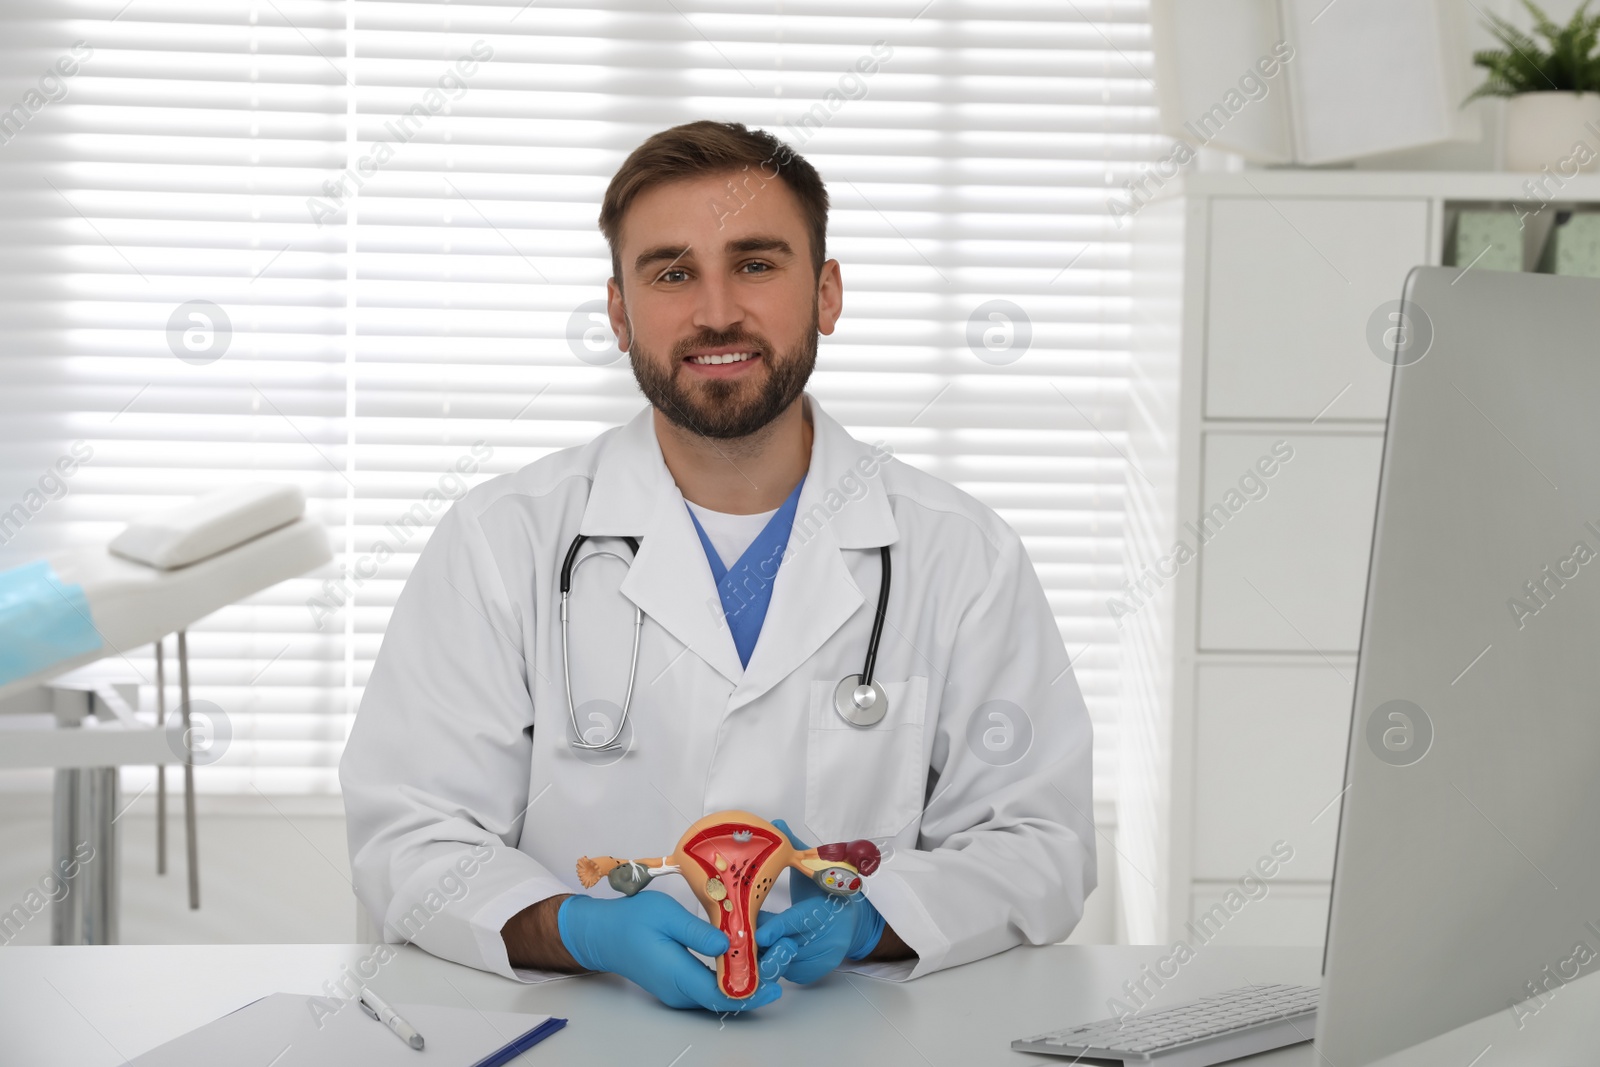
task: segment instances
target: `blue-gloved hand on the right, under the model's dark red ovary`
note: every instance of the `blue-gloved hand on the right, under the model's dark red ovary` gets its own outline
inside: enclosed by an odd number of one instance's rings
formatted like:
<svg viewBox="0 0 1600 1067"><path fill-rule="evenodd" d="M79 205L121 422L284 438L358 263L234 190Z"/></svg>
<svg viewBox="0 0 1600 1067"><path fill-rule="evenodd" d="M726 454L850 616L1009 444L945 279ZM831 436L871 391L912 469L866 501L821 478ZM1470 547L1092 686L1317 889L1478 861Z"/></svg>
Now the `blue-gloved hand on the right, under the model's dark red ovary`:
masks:
<svg viewBox="0 0 1600 1067"><path fill-rule="evenodd" d="M811 848L782 819L774 819L773 825L792 846ZM774 953L782 953L774 955L774 966L790 982L810 985L845 960L861 960L883 937L883 917L859 891L848 897L830 896L790 869L789 901L787 910L755 917L755 944L760 949L773 945ZM794 944L794 955L784 963L789 944ZM766 957L762 958L765 963ZM765 969L762 977L766 977Z"/></svg>

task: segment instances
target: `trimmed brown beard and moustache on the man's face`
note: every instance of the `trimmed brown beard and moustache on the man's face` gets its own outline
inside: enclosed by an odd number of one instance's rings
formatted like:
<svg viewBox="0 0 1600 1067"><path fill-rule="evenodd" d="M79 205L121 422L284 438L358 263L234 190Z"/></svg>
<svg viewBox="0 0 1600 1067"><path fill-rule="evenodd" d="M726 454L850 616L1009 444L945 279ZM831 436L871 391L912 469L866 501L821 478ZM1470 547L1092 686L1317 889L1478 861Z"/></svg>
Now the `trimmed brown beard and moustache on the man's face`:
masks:
<svg viewBox="0 0 1600 1067"><path fill-rule="evenodd" d="M667 419L690 434L714 438L749 437L782 414L805 390L816 368L818 307L811 304L811 328L805 339L789 349L781 358L773 347L741 330L730 333L701 331L699 336L680 341L672 349L672 363L661 363L640 349L638 341L629 347L629 363L645 398ZM706 378L688 386L682 381L694 371L683 368L683 360L694 349L739 346L746 352L760 352L766 363L766 376L755 395L750 382Z"/></svg>

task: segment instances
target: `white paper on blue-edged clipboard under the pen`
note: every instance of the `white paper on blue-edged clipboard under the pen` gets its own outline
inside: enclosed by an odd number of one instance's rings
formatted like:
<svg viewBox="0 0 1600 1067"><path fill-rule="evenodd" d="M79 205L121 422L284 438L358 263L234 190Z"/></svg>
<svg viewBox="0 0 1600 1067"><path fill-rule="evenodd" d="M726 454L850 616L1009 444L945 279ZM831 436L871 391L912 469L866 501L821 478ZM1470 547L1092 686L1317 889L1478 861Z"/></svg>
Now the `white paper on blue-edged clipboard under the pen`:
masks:
<svg viewBox="0 0 1600 1067"><path fill-rule="evenodd" d="M312 1001L318 1005L315 1013ZM330 1005L342 1008L328 1014ZM130 1067L470 1067L550 1017L437 1005L394 1005L394 1009L422 1035L421 1051L354 1000L272 993L150 1049L130 1061Z"/></svg>

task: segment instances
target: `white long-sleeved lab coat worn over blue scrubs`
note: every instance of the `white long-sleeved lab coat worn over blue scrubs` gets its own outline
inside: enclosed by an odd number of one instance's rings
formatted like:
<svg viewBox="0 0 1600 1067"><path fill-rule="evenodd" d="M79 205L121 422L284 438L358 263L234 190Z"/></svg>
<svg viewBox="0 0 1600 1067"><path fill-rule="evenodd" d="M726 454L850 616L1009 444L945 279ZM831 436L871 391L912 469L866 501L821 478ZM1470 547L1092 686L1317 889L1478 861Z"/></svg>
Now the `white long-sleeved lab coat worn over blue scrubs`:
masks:
<svg viewBox="0 0 1600 1067"><path fill-rule="evenodd" d="M781 817L808 845L872 838L885 851L866 893L918 958L845 969L920 977L1072 931L1096 881L1090 720L1022 544L990 509L806 400L811 466L747 669L650 408L475 486L442 518L339 763L355 891L387 941L557 977L509 965L506 920L582 891L579 856L666 856L690 822L726 808ZM640 539L626 576L594 560L573 579L573 699L581 715L613 702L589 739L616 723L634 606L645 613L621 758L568 744L558 574L578 533L602 537L586 553L627 557L614 537ZM890 710L861 729L834 712L834 688L862 669L885 544L875 678ZM1006 734L997 709L1027 721ZM581 718L586 731L597 721ZM677 875L651 891L701 915ZM616 896L605 881L590 893ZM787 904L781 878L765 909Z"/></svg>

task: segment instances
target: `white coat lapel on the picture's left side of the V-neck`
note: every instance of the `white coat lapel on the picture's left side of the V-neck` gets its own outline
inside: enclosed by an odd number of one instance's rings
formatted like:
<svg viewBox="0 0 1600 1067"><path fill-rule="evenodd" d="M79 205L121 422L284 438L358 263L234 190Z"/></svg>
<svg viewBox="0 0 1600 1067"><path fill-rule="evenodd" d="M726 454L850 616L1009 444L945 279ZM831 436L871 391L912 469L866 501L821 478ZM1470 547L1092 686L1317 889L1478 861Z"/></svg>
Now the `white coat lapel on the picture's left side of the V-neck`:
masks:
<svg viewBox="0 0 1600 1067"><path fill-rule="evenodd" d="M638 537L622 595L717 673L739 683L739 651L722 621L722 598L683 494L661 459L650 408L606 443L579 530Z"/></svg>

